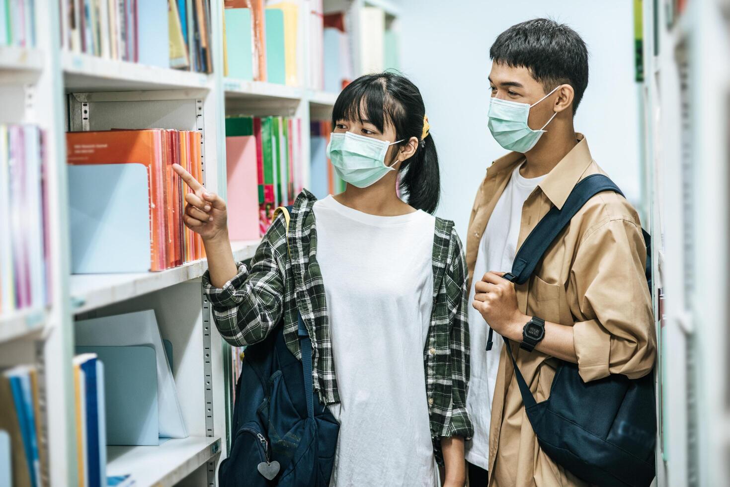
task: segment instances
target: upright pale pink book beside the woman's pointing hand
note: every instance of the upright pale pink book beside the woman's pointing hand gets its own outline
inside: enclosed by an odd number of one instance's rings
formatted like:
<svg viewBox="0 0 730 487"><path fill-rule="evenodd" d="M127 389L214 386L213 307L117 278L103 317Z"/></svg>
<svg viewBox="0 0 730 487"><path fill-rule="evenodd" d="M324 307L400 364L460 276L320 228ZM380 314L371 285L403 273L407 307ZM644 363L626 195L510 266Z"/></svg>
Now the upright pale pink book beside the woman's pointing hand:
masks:
<svg viewBox="0 0 730 487"><path fill-rule="evenodd" d="M228 168L228 235L231 240L254 240L258 229L256 139L226 137Z"/></svg>

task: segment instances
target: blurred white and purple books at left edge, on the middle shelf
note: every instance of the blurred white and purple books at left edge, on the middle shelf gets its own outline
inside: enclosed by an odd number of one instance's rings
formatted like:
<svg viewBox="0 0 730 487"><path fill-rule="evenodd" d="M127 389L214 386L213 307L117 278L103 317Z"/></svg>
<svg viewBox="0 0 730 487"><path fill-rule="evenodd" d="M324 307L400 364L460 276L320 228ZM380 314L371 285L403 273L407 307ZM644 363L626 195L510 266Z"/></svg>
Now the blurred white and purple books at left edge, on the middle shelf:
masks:
<svg viewBox="0 0 730 487"><path fill-rule="evenodd" d="M41 309L50 291L42 132L0 124L0 313Z"/></svg>

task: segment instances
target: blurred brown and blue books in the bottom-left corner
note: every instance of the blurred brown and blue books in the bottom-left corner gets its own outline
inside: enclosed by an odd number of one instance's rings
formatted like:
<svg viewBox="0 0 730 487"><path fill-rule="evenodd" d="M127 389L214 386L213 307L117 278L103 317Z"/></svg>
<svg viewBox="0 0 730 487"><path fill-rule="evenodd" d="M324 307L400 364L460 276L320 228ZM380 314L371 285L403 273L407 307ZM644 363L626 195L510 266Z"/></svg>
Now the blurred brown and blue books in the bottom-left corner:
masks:
<svg viewBox="0 0 730 487"><path fill-rule="evenodd" d="M6 447L0 444L0 472L9 470L13 486L47 485L47 470L41 467L45 466L46 459L39 448L41 415L45 411L40 403L38 372L34 365L20 365L2 372L0 411L0 433L7 434Z"/></svg>

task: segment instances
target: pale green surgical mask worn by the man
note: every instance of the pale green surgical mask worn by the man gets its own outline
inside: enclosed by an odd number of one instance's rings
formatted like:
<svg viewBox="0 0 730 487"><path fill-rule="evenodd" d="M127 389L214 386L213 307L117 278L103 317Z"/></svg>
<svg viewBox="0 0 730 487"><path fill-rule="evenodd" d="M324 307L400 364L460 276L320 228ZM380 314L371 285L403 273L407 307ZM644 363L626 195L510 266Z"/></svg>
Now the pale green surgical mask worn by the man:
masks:
<svg viewBox="0 0 730 487"><path fill-rule="evenodd" d="M560 85L553 88L556 91ZM526 153L537 144L537 141L545 134L545 127L553 121L558 112L553 113L542 129L533 130L527 125L527 118L530 116L530 108L540 101L548 98L553 91L533 104L518 103L517 101L492 98L489 102L489 131L492 137L507 150L514 150L519 153Z"/></svg>

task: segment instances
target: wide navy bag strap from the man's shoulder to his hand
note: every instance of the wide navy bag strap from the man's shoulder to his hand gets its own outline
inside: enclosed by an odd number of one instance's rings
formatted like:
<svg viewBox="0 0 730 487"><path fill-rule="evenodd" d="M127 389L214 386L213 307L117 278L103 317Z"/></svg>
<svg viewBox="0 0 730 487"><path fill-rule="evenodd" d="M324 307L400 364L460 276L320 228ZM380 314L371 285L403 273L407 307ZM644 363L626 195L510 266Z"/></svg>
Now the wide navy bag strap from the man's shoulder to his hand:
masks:
<svg viewBox="0 0 730 487"><path fill-rule="evenodd" d="M515 284L526 283L553 241L570 222L570 219L588 202L593 196L603 191L614 191L621 194L621 190L607 176L590 175L575 185L563 207L550 209L547 215L542 217L534 229L523 242L520 250L515 256L512 264L512 272L504 275L504 278Z"/></svg>

